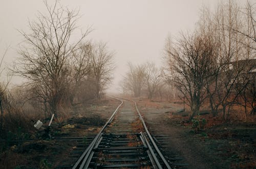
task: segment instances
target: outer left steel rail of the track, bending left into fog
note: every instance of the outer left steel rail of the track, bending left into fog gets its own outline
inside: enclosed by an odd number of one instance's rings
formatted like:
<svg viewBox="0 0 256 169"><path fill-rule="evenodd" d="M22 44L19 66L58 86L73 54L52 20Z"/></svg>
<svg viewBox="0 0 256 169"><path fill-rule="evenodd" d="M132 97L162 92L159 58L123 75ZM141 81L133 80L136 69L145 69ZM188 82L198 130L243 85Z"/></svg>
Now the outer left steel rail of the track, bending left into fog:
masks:
<svg viewBox="0 0 256 169"><path fill-rule="evenodd" d="M117 98L115 98L115 99L117 99ZM98 132L98 134L94 137L94 139L92 140L91 144L87 147L87 149L82 153L80 158L76 161L76 163L74 164L72 169L77 168L81 162L82 163L81 163L79 168L83 168L83 166L86 164L86 162L87 162L87 160L89 158L89 155L91 154L95 144L97 143L97 141L99 140L100 136L102 135L102 131L106 128L106 126L108 126L113 121L116 112L118 111L119 107L123 104L122 100L120 100L120 99L117 99L117 100L121 101L121 103L116 108L116 110L113 112L113 114L110 117L110 119L108 120L108 122L105 123L105 125L101 128L101 130Z"/></svg>

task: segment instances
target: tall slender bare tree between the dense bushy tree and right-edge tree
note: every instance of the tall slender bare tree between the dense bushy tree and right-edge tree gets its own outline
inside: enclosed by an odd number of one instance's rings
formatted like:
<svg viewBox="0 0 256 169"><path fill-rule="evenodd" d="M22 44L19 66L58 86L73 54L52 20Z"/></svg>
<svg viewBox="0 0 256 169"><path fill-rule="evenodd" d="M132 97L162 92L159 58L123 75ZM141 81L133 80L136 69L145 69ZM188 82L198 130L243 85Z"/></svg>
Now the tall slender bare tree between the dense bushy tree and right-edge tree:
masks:
<svg viewBox="0 0 256 169"><path fill-rule="evenodd" d="M222 66L222 71L216 83L217 94L216 107L222 106L223 119L226 115L226 107L228 106L227 114L230 107L235 103L241 90L234 93L236 84L240 79L240 75L244 65L239 66L239 60L242 59L243 37L237 32L231 31L242 27L240 8L236 3L230 2L227 5L220 5L215 15L215 23L218 27L217 39L219 39L219 65ZM243 89L246 86L240 88Z"/></svg>

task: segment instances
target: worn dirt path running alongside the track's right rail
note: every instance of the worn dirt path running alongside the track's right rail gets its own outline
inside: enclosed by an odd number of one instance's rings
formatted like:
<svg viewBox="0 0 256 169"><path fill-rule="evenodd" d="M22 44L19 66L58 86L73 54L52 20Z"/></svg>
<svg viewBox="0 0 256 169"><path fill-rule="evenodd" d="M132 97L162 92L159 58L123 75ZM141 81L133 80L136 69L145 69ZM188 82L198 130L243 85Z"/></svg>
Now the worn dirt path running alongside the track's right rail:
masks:
<svg viewBox="0 0 256 169"><path fill-rule="evenodd" d="M201 144L200 136L189 133L190 128L175 126L169 122L168 111L176 111L182 108L181 105L163 104L161 105L146 105L143 102L139 103L141 112L146 119L151 131L157 135L167 135L168 142L164 150L172 152L176 157L181 157L184 160L174 161L174 163L186 163L184 166L175 166L177 168L228 168L223 161L216 159L210 154L207 148ZM167 155L168 156L168 155ZM169 157L168 158L172 158Z"/></svg>

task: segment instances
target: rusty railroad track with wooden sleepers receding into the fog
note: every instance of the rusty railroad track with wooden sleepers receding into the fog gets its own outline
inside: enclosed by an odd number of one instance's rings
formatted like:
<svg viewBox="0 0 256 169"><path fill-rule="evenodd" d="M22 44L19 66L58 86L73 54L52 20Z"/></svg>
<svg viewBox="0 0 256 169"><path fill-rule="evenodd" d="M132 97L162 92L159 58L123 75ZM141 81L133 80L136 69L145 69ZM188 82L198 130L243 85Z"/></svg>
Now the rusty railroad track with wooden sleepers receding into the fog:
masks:
<svg viewBox="0 0 256 169"><path fill-rule="evenodd" d="M171 168L136 102L125 99L78 158L75 168Z"/></svg>

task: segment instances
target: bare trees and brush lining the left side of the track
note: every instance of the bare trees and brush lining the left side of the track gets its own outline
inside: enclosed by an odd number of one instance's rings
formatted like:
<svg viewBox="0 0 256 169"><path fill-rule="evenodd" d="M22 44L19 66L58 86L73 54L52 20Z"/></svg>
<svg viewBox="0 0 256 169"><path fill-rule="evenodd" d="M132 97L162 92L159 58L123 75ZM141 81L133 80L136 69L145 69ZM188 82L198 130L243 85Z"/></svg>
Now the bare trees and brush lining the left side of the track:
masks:
<svg viewBox="0 0 256 169"><path fill-rule="evenodd" d="M8 117L22 118L24 112L62 118L72 104L104 97L113 78L113 52L103 42L87 40L90 29L78 34L79 12L58 1L53 6L45 1L45 6L47 14L38 13L29 22L29 32L19 31L24 41L10 72L26 82L12 89L1 86L0 130L3 117L8 123Z"/></svg>

